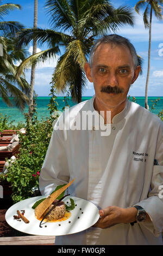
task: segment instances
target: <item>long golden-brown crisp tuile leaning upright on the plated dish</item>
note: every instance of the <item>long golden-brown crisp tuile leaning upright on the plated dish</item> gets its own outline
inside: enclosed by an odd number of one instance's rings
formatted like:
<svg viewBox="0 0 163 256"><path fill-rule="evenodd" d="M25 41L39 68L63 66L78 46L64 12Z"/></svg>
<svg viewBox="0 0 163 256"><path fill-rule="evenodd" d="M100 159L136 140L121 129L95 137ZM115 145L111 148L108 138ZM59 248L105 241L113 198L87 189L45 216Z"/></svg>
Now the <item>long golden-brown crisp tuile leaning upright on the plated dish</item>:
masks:
<svg viewBox="0 0 163 256"><path fill-rule="evenodd" d="M43 200L37 207L35 208L35 215L37 218L40 218L43 213L48 209L49 206L53 203L55 199L59 197L59 195L64 192L70 185L72 184L72 181L70 181L68 184L66 184L64 187L58 189L57 191L53 192L51 195L49 195L45 200Z"/></svg>

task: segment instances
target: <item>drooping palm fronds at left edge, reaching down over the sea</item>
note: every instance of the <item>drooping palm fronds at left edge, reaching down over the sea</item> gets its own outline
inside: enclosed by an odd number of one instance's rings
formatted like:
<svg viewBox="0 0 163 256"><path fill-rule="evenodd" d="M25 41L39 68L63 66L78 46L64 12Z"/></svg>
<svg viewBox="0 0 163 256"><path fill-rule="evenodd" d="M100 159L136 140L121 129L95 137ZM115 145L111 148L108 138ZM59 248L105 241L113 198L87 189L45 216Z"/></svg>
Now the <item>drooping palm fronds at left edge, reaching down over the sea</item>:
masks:
<svg viewBox="0 0 163 256"><path fill-rule="evenodd" d="M27 57L26 51L17 50L13 39L0 37L3 45L3 56L0 57L0 96L8 106L14 104L23 110L28 103L29 84L24 74L16 78L16 61L21 62Z"/></svg>

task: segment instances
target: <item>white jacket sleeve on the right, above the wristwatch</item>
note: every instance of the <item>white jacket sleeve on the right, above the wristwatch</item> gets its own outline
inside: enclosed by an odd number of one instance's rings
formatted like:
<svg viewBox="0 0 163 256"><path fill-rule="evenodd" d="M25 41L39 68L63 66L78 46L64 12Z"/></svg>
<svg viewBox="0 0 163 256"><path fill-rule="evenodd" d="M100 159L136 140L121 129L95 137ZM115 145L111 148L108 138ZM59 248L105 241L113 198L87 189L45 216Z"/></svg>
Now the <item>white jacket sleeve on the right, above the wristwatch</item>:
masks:
<svg viewBox="0 0 163 256"><path fill-rule="evenodd" d="M143 222L141 225L149 229L155 236L159 236L163 229L163 123L159 129L155 159L159 165L153 166L151 189L148 198L140 201L140 205L148 212L152 223Z"/></svg>

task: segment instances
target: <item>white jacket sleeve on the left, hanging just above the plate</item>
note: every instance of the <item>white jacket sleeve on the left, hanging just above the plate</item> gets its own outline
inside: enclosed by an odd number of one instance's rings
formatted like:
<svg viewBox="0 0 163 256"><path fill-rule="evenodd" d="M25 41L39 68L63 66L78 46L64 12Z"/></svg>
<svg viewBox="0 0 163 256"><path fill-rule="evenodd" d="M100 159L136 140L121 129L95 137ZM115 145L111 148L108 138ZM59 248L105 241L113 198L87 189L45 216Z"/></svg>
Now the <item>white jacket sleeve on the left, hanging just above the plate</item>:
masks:
<svg viewBox="0 0 163 256"><path fill-rule="evenodd" d="M40 192L42 195L49 195L58 185L68 183L69 179L64 142L54 127L40 172Z"/></svg>

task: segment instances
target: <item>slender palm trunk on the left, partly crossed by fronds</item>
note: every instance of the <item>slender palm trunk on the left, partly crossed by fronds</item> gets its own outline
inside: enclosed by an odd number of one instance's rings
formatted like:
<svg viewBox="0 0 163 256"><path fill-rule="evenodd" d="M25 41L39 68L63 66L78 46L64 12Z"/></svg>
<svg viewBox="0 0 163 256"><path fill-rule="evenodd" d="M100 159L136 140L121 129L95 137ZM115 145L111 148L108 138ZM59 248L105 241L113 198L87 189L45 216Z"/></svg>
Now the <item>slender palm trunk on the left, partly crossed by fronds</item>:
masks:
<svg viewBox="0 0 163 256"><path fill-rule="evenodd" d="M34 28L37 27L37 8L38 8L38 0L34 2ZM33 40L33 55L37 51L37 40ZM30 76L30 92L29 92L29 108L28 115L29 120L32 120L32 111L33 111L33 96L34 96L34 84L35 84L35 68L36 65L32 65L31 76Z"/></svg>

